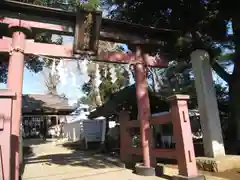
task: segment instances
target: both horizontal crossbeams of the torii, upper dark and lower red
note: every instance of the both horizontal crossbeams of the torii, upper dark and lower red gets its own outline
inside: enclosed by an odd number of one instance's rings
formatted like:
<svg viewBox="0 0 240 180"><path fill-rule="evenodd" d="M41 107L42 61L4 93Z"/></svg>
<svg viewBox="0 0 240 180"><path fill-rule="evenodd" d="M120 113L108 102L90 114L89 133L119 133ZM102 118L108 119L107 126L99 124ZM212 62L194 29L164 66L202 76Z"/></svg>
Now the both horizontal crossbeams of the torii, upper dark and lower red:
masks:
<svg viewBox="0 0 240 180"><path fill-rule="evenodd" d="M29 5L14 1L0 2L0 29L6 30L9 24L28 25L33 34L35 32L47 31L55 34L74 35L76 14L60 9L46 8L42 6ZM47 16L46 16L47 14ZM21 21L19 21L21 20ZM122 21L102 19L100 28L100 40L114 41L127 44L149 44L164 45L166 39L176 36L178 31L169 29L157 29ZM0 34L4 36L6 34ZM11 39L0 39L0 52L8 52ZM32 40L26 42L25 54L35 54L65 59L76 59L73 55L72 45L55 45L36 43ZM105 52L94 58L96 61L113 63L134 63L134 54L119 52ZM160 57L149 57L148 66L167 67L168 60L163 54Z"/></svg>

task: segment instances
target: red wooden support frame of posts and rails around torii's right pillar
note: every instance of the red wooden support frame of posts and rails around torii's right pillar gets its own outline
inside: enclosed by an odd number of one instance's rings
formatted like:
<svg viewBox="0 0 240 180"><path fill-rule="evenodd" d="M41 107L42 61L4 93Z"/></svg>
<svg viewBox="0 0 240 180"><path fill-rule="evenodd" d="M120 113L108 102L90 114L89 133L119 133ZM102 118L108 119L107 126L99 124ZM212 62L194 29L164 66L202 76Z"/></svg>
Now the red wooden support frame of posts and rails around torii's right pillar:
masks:
<svg viewBox="0 0 240 180"><path fill-rule="evenodd" d="M170 111L152 116L150 118L151 128L145 131L145 133L150 133L150 135L146 137L150 137L149 156L152 166L156 165L156 158L175 158L178 162L179 175L191 177L197 176L197 167L188 115L188 99L189 96L187 95L175 95L168 98L171 104ZM124 111L119 114L119 120L121 160L126 161L131 155L143 155L141 147L132 146L132 137L130 134L133 128L140 127L140 121L130 120L129 114ZM173 124L173 138L175 142L173 148L154 147L155 138L152 136L153 126L169 122Z"/></svg>

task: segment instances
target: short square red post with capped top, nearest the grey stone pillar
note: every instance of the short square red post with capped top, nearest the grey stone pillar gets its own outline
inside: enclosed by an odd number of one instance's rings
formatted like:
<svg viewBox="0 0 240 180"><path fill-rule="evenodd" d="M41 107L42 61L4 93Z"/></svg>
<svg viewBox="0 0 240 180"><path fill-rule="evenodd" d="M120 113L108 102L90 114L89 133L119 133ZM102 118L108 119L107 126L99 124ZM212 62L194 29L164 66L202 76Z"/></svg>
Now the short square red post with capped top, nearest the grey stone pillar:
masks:
<svg viewBox="0 0 240 180"><path fill-rule="evenodd" d="M193 147L191 125L188 116L188 95L174 95L168 98L171 104L173 135L176 142L176 156L179 175L197 177L197 165Z"/></svg>

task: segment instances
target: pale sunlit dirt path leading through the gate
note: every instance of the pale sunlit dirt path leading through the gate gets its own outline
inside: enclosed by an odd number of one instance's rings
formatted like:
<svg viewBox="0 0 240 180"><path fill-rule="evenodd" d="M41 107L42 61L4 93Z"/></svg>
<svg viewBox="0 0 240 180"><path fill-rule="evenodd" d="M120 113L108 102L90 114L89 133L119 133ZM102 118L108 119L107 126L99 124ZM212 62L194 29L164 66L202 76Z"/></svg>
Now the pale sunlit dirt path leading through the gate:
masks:
<svg viewBox="0 0 240 180"><path fill-rule="evenodd" d="M178 172L166 168L163 177L143 177L101 154L70 150L52 141L28 140L24 145L32 149L32 154L25 157L24 180L166 180ZM224 180L209 175L206 179Z"/></svg>

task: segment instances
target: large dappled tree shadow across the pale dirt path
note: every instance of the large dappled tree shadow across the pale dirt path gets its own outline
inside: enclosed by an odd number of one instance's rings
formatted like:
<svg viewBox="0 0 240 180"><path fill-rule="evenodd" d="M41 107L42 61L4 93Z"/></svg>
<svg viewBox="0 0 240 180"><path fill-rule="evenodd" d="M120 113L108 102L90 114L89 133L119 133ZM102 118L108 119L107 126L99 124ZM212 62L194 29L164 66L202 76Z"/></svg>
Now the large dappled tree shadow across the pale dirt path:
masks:
<svg viewBox="0 0 240 180"><path fill-rule="evenodd" d="M92 169L104 169L104 168L116 168L116 167L126 167L135 170L135 163L123 164L119 159L119 154L114 155L109 153L101 153L102 149L97 145L92 145L91 150L83 150L78 143L65 143L56 146L62 146L69 149L70 152L61 152L48 155L40 155L35 157L25 157L25 165L27 164L45 164L48 166L60 165L60 166L73 166L73 167L89 167ZM116 155L118 154L118 155ZM141 161L141 158L136 157L136 161ZM166 175L162 169L157 168L156 175L171 179L170 176Z"/></svg>

